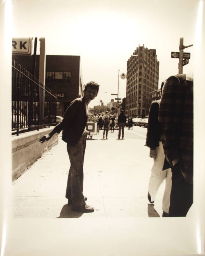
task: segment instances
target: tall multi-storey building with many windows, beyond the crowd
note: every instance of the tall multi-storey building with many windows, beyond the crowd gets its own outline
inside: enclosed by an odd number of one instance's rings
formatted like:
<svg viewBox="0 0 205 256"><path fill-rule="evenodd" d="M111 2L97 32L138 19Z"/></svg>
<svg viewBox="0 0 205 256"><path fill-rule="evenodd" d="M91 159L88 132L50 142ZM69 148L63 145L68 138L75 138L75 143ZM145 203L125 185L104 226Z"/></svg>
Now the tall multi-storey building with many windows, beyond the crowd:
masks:
<svg viewBox="0 0 205 256"><path fill-rule="evenodd" d="M125 113L144 118L149 113L151 92L158 89L159 61L155 49L139 46L127 61Z"/></svg>

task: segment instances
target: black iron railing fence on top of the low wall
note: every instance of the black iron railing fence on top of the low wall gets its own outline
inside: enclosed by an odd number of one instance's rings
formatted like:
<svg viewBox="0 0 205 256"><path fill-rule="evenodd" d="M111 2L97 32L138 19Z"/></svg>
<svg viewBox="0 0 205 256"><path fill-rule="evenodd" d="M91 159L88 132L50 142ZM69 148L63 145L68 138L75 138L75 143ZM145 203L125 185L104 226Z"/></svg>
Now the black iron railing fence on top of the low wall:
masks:
<svg viewBox="0 0 205 256"><path fill-rule="evenodd" d="M57 97L15 60L12 65L11 97L12 134L55 125Z"/></svg>

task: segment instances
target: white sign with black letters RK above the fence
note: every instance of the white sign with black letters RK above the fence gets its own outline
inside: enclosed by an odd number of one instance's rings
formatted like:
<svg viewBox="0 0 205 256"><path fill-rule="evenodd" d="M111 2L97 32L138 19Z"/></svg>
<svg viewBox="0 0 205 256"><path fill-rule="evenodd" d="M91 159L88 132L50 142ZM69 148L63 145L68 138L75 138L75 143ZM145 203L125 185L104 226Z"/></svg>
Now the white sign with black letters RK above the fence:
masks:
<svg viewBox="0 0 205 256"><path fill-rule="evenodd" d="M33 38L12 38L12 53L32 55Z"/></svg>

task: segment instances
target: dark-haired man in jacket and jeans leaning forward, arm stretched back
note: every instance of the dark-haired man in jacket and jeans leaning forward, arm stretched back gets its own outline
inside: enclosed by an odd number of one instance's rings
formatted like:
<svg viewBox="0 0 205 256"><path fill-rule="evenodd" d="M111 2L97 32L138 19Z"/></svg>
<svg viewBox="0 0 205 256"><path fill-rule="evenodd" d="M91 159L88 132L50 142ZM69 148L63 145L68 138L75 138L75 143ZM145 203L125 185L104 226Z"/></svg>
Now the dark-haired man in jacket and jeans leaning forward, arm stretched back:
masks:
<svg viewBox="0 0 205 256"><path fill-rule="evenodd" d="M98 83L90 81L84 86L82 98L74 99L64 113L62 122L43 136L40 142L48 141L55 133L62 132L62 140L67 143L68 156L71 166L68 173L66 198L71 210L78 212L93 212L94 208L87 205L83 195L83 162L86 148L86 139L89 131L86 130L88 104L98 95Z"/></svg>

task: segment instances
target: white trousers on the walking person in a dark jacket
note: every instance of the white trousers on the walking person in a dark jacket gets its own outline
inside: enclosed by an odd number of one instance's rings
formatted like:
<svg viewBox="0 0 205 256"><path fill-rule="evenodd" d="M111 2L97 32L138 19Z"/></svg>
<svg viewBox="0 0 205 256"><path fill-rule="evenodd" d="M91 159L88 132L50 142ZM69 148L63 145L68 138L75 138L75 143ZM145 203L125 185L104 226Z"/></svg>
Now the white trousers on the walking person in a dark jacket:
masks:
<svg viewBox="0 0 205 256"><path fill-rule="evenodd" d="M151 177L148 185L148 192L151 196L151 201L155 201L155 196L159 189L159 186L165 180L165 189L164 195L162 199L162 210L166 213L169 213L169 206L170 206L170 194L171 194L171 168L162 171L164 166L164 150L162 146L162 142L159 141L159 146L156 148L157 157L154 159L154 164L151 169Z"/></svg>

